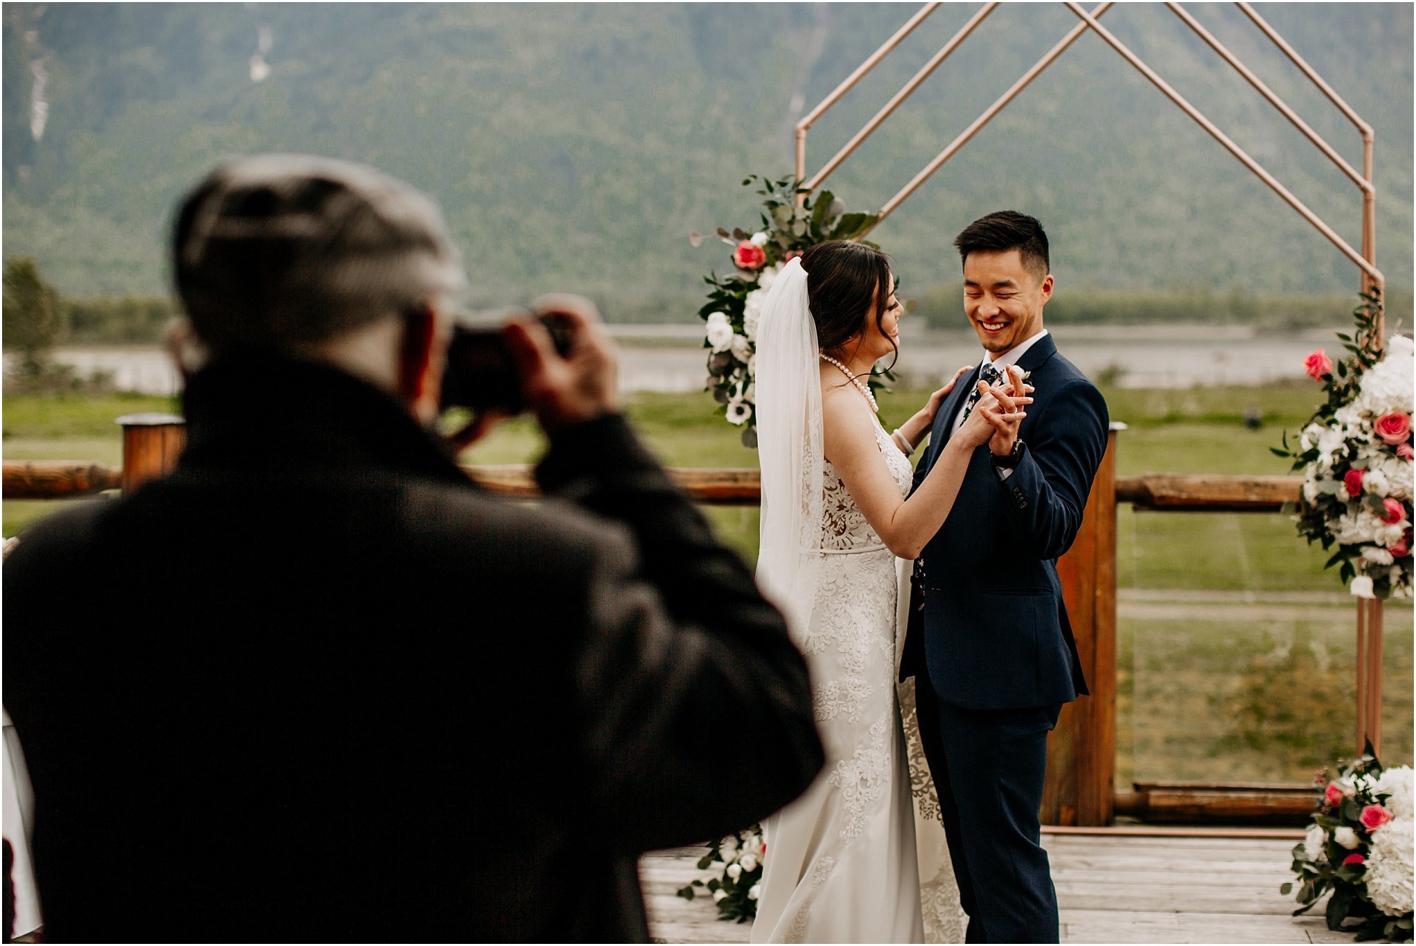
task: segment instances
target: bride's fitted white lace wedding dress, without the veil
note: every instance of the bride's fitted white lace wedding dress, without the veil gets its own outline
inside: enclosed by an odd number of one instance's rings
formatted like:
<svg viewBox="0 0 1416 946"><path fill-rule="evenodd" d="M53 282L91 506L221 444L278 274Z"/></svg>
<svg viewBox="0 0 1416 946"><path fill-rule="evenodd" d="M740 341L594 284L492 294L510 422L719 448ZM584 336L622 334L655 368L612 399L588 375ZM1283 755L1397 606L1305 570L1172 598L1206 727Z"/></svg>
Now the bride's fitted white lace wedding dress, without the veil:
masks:
<svg viewBox="0 0 1416 946"><path fill-rule="evenodd" d="M908 494L909 460L878 421L875 439ZM959 943L964 915L913 681L898 693L895 684L902 569L830 460L823 493L814 605L793 633L811 668L827 762L806 794L765 824L752 942Z"/></svg>

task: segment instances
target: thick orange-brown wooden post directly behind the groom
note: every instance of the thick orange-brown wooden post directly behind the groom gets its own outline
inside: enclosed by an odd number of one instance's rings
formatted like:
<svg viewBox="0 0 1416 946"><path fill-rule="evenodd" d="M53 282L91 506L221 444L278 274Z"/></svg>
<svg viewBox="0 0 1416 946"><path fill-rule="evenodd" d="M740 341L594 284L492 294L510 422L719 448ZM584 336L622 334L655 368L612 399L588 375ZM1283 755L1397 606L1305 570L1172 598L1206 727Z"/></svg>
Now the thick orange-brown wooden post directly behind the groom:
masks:
<svg viewBox="0 0 1416 946"><path fill-rule="evenodd" d="M1082 530L1058 559L1062 596L1092 691L1062 708L1048 738L1042 823L1110 824L1116 806L1116 433L1086 500Z"/></svg>

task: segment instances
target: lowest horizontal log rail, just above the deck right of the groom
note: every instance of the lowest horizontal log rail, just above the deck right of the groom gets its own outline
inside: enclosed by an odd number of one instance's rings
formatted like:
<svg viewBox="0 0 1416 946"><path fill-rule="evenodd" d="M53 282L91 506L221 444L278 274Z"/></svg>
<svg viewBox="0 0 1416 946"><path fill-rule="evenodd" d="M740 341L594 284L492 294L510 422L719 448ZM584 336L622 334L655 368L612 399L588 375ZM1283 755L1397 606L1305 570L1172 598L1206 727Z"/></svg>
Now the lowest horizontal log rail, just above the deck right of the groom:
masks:
<svg viewBox="0 0 1416 946"><path fill-rule="evenodd" d="M1317 810L1313 786L1283 783L1137 782L1116 793L1116 813L1150 823L1301 826Z"/></svg>

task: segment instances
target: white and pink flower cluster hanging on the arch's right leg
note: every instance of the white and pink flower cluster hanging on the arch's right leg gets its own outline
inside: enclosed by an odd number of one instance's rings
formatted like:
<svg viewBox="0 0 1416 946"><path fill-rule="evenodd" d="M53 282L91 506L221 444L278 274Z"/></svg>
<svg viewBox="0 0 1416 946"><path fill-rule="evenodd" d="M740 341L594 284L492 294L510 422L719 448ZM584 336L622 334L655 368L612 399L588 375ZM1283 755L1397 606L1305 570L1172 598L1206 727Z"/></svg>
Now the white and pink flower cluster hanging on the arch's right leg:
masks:
<svg viewBox="0 0 1416 946"><path fill-rule="evenodd" d="M1338 334L1347 358L1332 363L1323 348L1304 368L1327 391L1298 445L1273 452L1303 472L1294 520L1298 534L1324 549L1327 566L1358 598L1412 593L1412 340L1392 336L1378 350L1382 300L1364 293L1354 312L1357 333Z"/></svg>

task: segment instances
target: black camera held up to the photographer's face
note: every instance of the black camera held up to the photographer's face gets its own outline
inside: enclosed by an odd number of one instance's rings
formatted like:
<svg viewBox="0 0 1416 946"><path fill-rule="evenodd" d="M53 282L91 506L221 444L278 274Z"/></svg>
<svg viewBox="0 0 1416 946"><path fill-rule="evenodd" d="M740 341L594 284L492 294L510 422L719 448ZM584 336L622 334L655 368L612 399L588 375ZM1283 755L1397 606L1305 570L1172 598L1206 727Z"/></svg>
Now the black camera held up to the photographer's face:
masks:
<svg viewBox="0 0 1416 946"><path fill-rule="evenodd" d="M539 319L556 354L571 351L571 324L565 316L548 313L537 316L523 306L494 312L459 313L453 317L452 343L447 346L447 367L443 370L442 408L467 408L473 414L525 409L521 375L507 347L501 327L511 319Z"/></svg>

